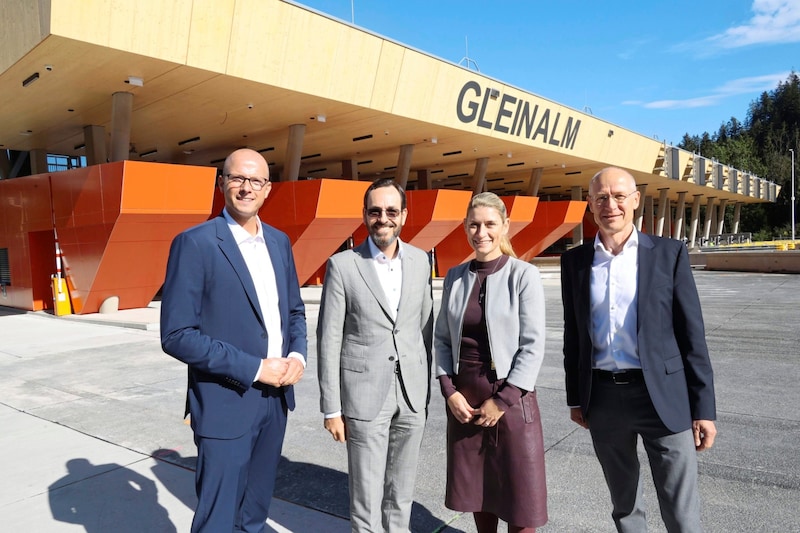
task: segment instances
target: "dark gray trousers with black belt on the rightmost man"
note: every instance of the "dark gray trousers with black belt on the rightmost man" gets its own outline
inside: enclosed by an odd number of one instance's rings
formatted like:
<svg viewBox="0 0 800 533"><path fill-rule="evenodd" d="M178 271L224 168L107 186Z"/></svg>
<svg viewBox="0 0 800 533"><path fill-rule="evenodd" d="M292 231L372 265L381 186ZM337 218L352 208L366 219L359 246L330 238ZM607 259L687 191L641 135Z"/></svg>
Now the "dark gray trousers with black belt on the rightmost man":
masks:
<svg viewBox="0 0 800 533"><path fill-rule="evenodd" d="M664 427L641 379L627 385L594 379L589 406L589 430L611 493L617 531L647 531L636 452L639 436L667 531L702 531L692 430L672 433Z"/></svg>

